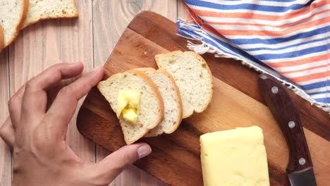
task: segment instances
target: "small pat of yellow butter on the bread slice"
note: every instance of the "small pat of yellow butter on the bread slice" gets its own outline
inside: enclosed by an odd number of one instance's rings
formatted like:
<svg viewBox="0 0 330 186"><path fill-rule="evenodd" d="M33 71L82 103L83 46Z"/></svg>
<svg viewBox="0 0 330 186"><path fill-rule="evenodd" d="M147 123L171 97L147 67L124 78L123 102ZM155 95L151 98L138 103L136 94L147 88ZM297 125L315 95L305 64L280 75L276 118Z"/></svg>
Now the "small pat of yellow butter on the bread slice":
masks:
<svg viewBox="0 0 330 186"><path fill-rule="evenodd" d="M124 120L130 123L136 123L136 120L138 120L139 105L140 92L135 90L119 91L116 115L119 118L123 114Z"/></svg>

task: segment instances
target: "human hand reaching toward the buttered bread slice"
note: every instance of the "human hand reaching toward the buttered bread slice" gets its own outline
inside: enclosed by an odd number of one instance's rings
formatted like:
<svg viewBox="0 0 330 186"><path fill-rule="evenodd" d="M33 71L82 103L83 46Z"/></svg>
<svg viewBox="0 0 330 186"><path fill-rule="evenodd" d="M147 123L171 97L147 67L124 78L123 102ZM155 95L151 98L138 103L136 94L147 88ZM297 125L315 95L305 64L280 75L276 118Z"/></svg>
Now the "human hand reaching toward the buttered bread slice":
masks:
<svg viewBox="0 0 330 186"><path fill-rule="evenodd" d="M0 137L13 147L12 185L109 185L128 164L151 153L148 144L131 144L99 163L89 163L68 147L66 131L78 100L97 85L104 70L92 70L63 87L48 110L47 90L82 70L82 63L56 64L11 97L10 116L0 128Z"/></svg>

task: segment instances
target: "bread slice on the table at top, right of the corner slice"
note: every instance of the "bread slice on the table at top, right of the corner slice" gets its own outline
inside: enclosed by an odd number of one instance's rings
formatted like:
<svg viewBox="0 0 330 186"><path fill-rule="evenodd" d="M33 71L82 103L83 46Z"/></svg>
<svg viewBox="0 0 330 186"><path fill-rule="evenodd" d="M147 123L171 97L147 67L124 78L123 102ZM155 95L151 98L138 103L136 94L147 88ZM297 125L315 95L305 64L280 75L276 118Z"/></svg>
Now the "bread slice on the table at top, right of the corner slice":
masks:
<svg viewBox="0 0 330 186"><path fill-rule="evenodd" d="M77 17L78 11L74 0L30 0L23 28L37 23L39 20Z"/></svg>

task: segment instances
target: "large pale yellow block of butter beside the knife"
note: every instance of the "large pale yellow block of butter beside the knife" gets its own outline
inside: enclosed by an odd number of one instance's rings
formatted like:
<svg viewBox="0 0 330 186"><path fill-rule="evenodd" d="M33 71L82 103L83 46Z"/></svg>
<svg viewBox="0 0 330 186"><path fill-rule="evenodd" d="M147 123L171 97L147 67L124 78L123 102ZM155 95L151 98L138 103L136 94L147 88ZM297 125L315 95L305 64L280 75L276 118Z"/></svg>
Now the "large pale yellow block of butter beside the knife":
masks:
<svg viewBox="0 0 330 186"><path fill-rule="evenodd" d="M204 186L267 186L262 129L257 126L200 136Z"/></svg>

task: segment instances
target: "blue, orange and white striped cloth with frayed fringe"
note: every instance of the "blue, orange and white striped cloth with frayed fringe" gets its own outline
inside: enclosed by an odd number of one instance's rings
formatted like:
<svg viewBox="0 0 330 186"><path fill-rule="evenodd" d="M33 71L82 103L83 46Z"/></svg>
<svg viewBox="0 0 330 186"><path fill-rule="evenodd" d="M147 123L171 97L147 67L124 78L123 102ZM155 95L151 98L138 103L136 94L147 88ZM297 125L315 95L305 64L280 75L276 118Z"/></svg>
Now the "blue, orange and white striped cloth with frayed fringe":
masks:
<svg viewBox="0 0 330 186"><path fill-rule="evenodd" d="M330 0L184 0L178 35L199 54L236 58L330 112Z"/></svg>

